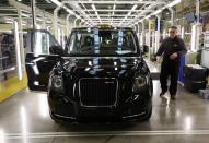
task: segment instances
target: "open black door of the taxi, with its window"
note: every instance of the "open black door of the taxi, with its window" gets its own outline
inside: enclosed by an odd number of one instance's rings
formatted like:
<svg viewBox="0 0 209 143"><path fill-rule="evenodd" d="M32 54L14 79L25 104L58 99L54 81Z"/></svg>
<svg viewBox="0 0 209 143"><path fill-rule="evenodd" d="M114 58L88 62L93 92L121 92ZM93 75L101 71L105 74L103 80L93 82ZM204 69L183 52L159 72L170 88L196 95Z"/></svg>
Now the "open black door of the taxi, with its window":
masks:
<svg viewBox="0 0 209 143"><path fill-rule="evenodd" d="M28 31L26 37L25 68L30 90L47 91L49 73L60 60L60 56L50 53L49 48L58 45L55 37L47 31Z"/></svg>

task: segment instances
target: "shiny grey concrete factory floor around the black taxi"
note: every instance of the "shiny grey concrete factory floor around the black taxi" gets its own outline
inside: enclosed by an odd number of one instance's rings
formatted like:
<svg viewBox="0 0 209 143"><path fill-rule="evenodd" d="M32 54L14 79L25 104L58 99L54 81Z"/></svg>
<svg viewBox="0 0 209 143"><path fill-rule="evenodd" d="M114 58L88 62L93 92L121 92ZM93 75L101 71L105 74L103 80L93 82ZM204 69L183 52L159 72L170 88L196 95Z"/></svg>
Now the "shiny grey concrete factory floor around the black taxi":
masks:
<svg viewBox="0 0 209 143"><path fill-rule="evenodd" d="M0 143L208 143L209 100L178 87L177 100L160 98L146 122L65 123L48 115L46 93L24 90L0 104Z"/></svg>

